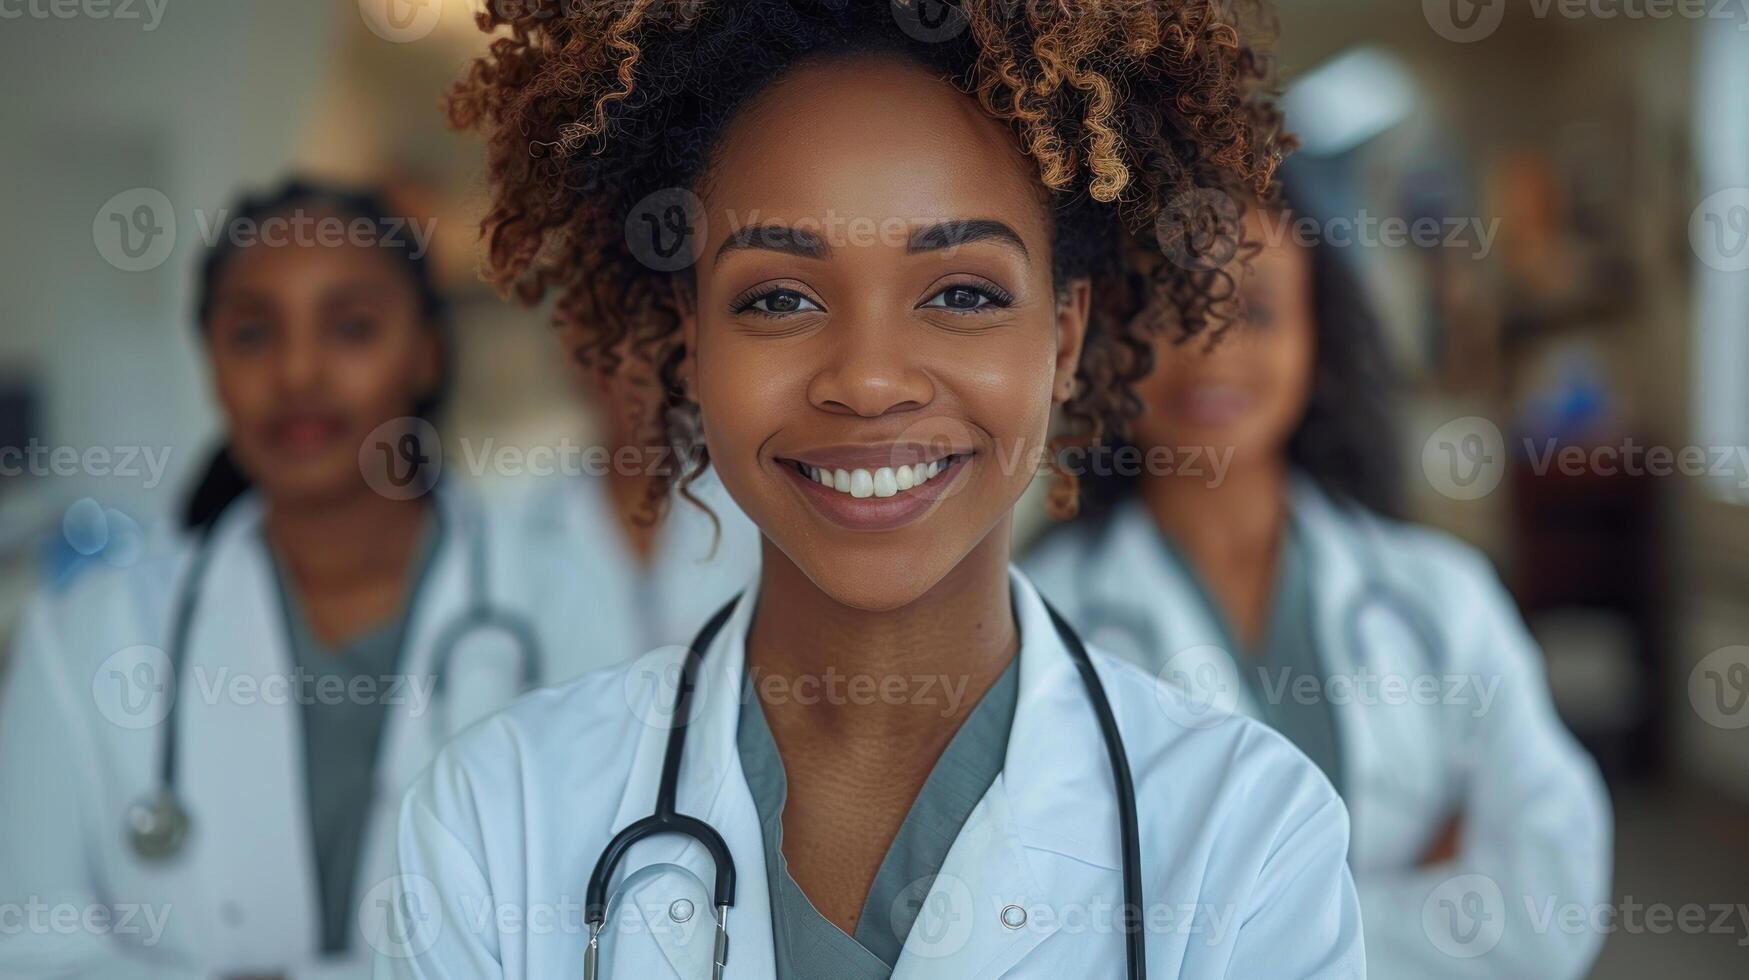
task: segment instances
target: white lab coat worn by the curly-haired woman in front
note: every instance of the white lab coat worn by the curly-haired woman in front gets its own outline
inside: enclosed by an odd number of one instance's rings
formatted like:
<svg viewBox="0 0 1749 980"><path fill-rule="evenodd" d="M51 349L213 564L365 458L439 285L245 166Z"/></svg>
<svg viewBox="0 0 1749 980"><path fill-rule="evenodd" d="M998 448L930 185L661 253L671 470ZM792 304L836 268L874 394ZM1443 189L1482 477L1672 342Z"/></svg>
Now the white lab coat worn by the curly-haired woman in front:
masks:
<svg viewBox="0 0 1749 980"><path fill-rule="evenodd" d="M1002 774L960 830L894 976L1121 976L1118 803L1086 688L1018 572L1020 691ZM773 976L764 840L740 766L749 593L705 653L677 810L724 836L738 872L731 980ZM1186 723L1181 693L1093 651L1140 814L1153 976L1364 976L1347 816L1329 782L1268 728ZM651 654L539 691L456 738L401 816L401 900L380 978L574 976L582 903L609 838L654 807L679 656ZM929 696L923 684L906 696ZM936 695L939 696L939 695ZM633 845L614 880L628 919L603 938L603 976L708 976L705 849ZM677 914L677 901L691 914ZM1004 910L1011 924L1004 924ZM686 906L680 906L686 908ZM1025 912L1023 920L1016 920Z"/></svg>

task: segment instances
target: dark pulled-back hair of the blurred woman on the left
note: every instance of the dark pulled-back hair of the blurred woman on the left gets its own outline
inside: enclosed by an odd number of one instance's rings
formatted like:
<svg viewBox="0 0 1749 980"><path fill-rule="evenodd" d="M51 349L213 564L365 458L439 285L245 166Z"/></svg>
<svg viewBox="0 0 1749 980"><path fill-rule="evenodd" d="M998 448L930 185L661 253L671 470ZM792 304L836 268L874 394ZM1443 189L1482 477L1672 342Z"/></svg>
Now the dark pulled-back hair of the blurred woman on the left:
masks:
<svg viewBox="0 0 1749 980"><path fill-rule="evenodd" d="M219 280L245 248L245 245L238 243L240 228L259 226L269 217L292 210L324 210L334 212L348 222L366 220L376 226L376 233L381 238L388 238L392 233L399 236L406 222L406 215L392 208L381 191L341 187L304 177L290 177L271 191L243 196L227 208L224 229L206 248L206 257L201 259L194 326L203 341L206 340L213 292L219 287ZM449 394L455 354L455 343L449 336L449 303L437 289L429 254L415 252L413 248L392 248L392 252L399 254L406 262L408 280L418 294L420 315L429 329L437 331L442 350L437 388L413 406L415 416L432 422ZM233 500L248 492L250 485L248 474L238 466L229 443L220 444L182 508L182 525L191 530L208 530Z"/></svg>

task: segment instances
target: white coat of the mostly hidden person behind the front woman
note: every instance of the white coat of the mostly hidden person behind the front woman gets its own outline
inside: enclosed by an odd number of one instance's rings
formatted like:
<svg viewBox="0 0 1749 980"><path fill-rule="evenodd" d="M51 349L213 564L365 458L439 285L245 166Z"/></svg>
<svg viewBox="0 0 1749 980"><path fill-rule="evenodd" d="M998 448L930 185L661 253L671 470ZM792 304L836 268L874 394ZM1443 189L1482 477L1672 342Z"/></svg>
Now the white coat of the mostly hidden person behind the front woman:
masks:
<svg viewBox="0 0 1749 980"><path fill-rule="evenodd" d="M715 471L693 494L722 522L673 497L645 565L626 546L602 478L554 474L488 492L495 567L514 595L547 609L542 644L561 651L568 681L659 646L684 644L759 567L759 530Z"/></svg>

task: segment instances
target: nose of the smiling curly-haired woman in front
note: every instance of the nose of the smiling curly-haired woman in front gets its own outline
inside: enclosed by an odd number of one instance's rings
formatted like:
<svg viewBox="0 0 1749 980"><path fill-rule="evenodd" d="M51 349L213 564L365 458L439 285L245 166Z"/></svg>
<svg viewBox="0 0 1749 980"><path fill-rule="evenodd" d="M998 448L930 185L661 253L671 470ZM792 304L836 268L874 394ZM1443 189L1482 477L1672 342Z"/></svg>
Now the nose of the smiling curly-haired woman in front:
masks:
<svg viewBox="0 0 1749 980"><path fill-rule="evenodd" d="M808 383L808 401L840 415L876 418L923 408L936 385L918 366L916 343L902 326L883 317L840 318L824 334L826 366Z"/></svg>

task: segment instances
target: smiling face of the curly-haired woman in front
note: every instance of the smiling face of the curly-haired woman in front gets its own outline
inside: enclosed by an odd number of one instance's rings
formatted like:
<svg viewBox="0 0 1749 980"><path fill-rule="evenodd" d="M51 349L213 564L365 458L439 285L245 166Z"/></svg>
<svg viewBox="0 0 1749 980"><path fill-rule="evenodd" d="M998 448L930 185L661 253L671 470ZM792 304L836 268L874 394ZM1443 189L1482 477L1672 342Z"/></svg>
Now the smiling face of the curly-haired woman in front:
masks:
<svg viewBox="0 0 1749 980"><path fill-rule="evenodd" d="M764 536L861 609L1006 546L1088 306L1053 294L1007 128L902 63L805 66L726 131L703 203L693 394Z"/></svg>

